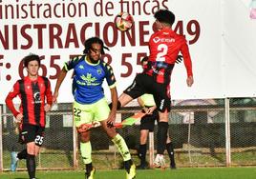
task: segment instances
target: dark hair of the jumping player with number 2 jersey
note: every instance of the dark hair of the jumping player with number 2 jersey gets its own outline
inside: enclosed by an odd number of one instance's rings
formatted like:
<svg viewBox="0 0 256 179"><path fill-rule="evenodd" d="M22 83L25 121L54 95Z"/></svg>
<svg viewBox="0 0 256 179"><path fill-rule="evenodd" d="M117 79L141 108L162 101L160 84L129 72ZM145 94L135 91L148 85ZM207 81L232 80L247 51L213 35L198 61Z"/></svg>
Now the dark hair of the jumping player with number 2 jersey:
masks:
<svg viewBox="0 0 256 179"><path fill-rule="evenodd" d="M154 17L160 21L160 23L167 23L173 25L175 21L175 15L170 10L158 10L155 12Z"/></svg>

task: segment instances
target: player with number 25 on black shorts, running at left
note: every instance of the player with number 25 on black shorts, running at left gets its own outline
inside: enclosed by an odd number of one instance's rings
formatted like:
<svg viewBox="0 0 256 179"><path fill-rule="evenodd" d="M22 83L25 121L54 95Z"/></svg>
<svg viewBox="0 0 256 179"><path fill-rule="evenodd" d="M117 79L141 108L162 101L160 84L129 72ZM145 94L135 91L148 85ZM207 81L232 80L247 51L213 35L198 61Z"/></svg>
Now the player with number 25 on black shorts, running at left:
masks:
<svg viewBox="0 0 256 179"><path fill-rule="evenodd" d="M27 149L17 156L12 156L11 170L17 167L18 159L26 159L30 179L35 178L35 159L43 144L46 123L45 112L53 104L51 84L47 77L39 76L40 59L36 54L23 58L24 67L28 76L16 81L13 89L6 98L6 104L15 117L20 128L20 142L26 144ZM14 108L12 99L19 96L21 105L19 110Z"/></svg>

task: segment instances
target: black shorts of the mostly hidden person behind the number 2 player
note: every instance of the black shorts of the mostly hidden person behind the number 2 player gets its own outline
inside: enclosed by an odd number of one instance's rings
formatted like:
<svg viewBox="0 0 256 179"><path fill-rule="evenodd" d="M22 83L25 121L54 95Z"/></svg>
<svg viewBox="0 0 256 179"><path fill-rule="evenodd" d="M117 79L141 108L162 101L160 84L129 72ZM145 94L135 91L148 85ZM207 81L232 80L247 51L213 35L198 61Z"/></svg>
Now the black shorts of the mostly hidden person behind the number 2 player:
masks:
<svg viewBox="0 0 256 179"><path fill-rule="evenodd" d="M147 114L143 116L140 120L139 129L148 129L149 131L154 131L155 121L159 122L159 111L154 110L152 114Z"/></svg>

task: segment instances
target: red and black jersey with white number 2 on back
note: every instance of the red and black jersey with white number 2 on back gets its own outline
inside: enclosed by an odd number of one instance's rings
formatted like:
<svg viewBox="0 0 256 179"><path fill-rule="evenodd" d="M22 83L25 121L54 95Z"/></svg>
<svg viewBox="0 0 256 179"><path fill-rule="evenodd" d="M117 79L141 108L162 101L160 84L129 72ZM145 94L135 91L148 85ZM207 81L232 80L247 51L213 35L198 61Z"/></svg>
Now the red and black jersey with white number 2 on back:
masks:
<svg viewBox="0 0 256 179"><path fill-rule="evenodd" d="M168 84L175 61L181 51L187 76L193 76L192 63L183 35L165 28L153 33L149 39L149 60L144 72L154 76L158 83Z"/></svg>

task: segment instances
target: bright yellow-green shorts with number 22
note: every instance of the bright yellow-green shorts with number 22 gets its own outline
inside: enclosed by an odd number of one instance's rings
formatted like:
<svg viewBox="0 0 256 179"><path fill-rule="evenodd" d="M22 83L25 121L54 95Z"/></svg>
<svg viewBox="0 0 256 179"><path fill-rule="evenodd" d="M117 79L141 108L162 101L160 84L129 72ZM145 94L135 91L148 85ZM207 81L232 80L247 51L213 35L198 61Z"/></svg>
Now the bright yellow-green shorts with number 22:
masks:
<svg viewBox="0 0 256 179"><path fill-rule="evenodd" d="M110 109L105 98L100 99L94 104L82 105L74 102L73 106L75 127L82 124L104 121L108 118Z"/></svg>

